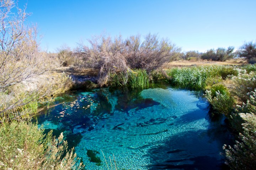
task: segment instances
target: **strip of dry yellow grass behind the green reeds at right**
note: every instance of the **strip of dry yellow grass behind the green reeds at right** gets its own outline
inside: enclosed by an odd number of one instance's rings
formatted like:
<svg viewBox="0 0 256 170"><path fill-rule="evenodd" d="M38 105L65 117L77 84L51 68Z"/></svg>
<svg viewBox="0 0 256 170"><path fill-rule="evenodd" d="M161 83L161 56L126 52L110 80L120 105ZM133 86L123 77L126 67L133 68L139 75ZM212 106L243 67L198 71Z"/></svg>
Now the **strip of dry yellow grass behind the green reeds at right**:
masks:
<svg viewBox="0 0 256 170"><path fill-rule="evenodd" d="M207 60L199 60L199 61L187 61L187 60L179 60L179 61L172 61L167 64L166 68L171 67L184 67L184 66L191 66L191 65L197 65L197 66L207 66L207 65L213 65L213 64L220 64L220 65L242 65L247 64L247 61L244 59L236 58L227 60L225 62L221 61L207 61Z"/></svg>

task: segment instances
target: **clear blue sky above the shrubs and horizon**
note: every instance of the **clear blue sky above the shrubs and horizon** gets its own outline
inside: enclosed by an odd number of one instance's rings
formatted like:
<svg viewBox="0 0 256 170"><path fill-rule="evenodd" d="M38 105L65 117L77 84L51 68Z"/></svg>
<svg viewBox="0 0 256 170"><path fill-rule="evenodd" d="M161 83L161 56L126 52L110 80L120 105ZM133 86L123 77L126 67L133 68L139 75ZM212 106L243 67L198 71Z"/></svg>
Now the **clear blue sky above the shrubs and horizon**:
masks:
<svg viewBox="0 0 256 170"><path fill-rule="evenodd" d="M256 40L256 0L20 0L43 35L42 49L106 32L158 33L183 51L206 51Z"/></svg>

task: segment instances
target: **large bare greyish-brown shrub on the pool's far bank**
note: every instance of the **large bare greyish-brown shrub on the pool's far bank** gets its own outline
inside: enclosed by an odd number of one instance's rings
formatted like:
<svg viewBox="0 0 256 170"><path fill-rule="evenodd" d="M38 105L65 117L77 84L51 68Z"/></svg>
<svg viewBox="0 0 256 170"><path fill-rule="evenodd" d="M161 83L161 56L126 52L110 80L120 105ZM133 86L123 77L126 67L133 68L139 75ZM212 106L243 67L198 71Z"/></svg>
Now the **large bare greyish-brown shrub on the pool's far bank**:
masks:
<svg viewBox="0 0 256 170"><path fill-rule="evenodd" d="M110 75L117 81L117 77L127 77L129 69L143 69L150 73L151 70L164 67L180 51L169 40L159 40L157 35L151 34L146 35L143 42L140 41L140 35L130 36L126 40L121 36L111 38L101 35L89 42L90 47L80 44L76 55L82 59L83 67L99 70L100 86L108 84Z"/></svg>

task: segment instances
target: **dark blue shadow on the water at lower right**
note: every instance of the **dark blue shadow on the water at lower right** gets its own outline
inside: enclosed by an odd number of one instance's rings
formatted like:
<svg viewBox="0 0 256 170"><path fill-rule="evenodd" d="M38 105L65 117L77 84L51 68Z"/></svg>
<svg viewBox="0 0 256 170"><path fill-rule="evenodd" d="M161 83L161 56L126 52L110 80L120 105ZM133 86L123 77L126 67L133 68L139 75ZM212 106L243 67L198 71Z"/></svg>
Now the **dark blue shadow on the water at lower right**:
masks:
<svg viewBox="0 0 256 170"><path fill-rule="evenodd" d="M197 119L189 115L187 118L180 118L181 124L185 123L184 119ZM225 157L220 154L224 143L232 143L226 125L221 120L211 121L208 130L190 129L185 133L170 136L161 145L150 149L146 155L150 157L149 170L228 170L224 164Z"/></svg>

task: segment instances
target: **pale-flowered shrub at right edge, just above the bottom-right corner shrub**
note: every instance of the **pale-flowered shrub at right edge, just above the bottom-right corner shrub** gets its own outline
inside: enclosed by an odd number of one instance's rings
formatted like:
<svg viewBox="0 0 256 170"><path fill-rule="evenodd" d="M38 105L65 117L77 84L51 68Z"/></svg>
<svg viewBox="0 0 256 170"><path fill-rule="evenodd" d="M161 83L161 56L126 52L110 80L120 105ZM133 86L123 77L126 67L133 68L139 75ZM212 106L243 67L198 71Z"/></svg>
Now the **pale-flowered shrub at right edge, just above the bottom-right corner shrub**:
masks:
<svg viewBox="0 0 256 170"><path fill-rule="evenodd" d="M233 77L235 88L231 91L235 96L239 97L241 102L246 103L249 100L250 92L256 89L256 74L251 72L249 74L239 74Z"/></svg>

